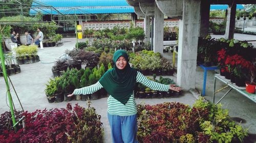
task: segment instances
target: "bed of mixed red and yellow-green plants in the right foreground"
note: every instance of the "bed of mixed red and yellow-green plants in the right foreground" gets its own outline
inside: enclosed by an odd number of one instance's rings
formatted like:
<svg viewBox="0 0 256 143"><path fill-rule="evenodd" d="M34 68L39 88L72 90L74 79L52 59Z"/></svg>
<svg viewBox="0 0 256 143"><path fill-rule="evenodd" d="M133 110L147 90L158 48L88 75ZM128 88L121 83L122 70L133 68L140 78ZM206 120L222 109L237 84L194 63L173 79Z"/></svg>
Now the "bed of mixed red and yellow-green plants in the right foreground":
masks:
<svg viewBox="0 0 256 143"><path fill-rule="evenodd" d="M138 105L139 142L242 142L241 125L229 120L221 105L197 100L193 107L176 102Z"/></svg>

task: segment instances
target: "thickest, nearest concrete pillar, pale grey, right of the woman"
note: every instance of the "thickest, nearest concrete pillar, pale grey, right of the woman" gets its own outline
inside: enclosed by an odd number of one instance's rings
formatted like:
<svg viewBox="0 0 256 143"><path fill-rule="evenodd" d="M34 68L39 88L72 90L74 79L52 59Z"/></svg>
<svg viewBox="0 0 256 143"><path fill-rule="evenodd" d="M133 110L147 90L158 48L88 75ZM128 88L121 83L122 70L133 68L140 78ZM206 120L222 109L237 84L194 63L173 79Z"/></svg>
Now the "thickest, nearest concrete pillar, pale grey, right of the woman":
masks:
<svg viewBox="0 0 256 143"><path fill-rule="evenodd" d="M179 22L177 84L183 90L195 89L201 0L184 0Z"/></svg>

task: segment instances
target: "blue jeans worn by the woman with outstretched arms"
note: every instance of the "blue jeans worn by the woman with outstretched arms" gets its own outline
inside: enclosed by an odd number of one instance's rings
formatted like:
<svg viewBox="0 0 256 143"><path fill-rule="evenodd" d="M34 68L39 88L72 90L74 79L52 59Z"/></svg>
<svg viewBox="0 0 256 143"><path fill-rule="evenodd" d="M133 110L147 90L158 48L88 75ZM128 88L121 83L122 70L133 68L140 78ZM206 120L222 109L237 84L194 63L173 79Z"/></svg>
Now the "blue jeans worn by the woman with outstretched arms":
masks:
<svg viewBox="0 0 256 143"><path fill-rule="evenodd" d="M137 143L137 115L117 116L108 113L113 143Z"/></svg>

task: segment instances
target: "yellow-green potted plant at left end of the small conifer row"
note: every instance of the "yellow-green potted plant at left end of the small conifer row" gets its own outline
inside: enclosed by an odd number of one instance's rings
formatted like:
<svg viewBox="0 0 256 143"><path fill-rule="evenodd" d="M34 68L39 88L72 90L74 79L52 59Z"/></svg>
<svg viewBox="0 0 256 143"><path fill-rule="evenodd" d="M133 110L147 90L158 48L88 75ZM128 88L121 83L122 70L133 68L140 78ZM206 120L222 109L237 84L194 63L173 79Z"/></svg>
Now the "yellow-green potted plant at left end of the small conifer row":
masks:
<svg viewBox="0 0 256 143"><path fill-rule="evenodd" d="M57 92L56 81L50 78L50 81L48 81L48 84L46 84L46 89L45 89L46 97L49 103L54 102L56 92Z"/></svg>

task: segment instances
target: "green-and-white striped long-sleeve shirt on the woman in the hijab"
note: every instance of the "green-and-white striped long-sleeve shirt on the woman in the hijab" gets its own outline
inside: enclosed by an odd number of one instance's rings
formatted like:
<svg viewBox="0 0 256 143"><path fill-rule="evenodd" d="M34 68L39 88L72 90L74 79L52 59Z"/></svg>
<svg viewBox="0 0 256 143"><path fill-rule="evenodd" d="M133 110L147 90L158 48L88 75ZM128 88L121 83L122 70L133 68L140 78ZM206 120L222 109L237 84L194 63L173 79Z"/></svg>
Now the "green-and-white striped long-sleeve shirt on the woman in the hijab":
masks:
<svg viewBox="0 0 256 143"><path fill-rule="evenodd" d="M156 90L156 91L168 91L169 90L169 85L157 83L155 81L152 81L148 78L146 78L143 74L140 72L137 72L136 76L136 82L140 82L146 87ZM88 87L84 87L81 89L76 89L74 91L75 95L79 94L92 94L98 90L100 90L102 85L99 83L99 81L93 85L90 85ZM124 105L121 102L117 101L114 97L111 95L108 98L108 112L110 115L118 115L118 116L132 116L137 113L137 108L136 108L136 102L134 99L134 94L131 95L127 103Z"/></svg>

